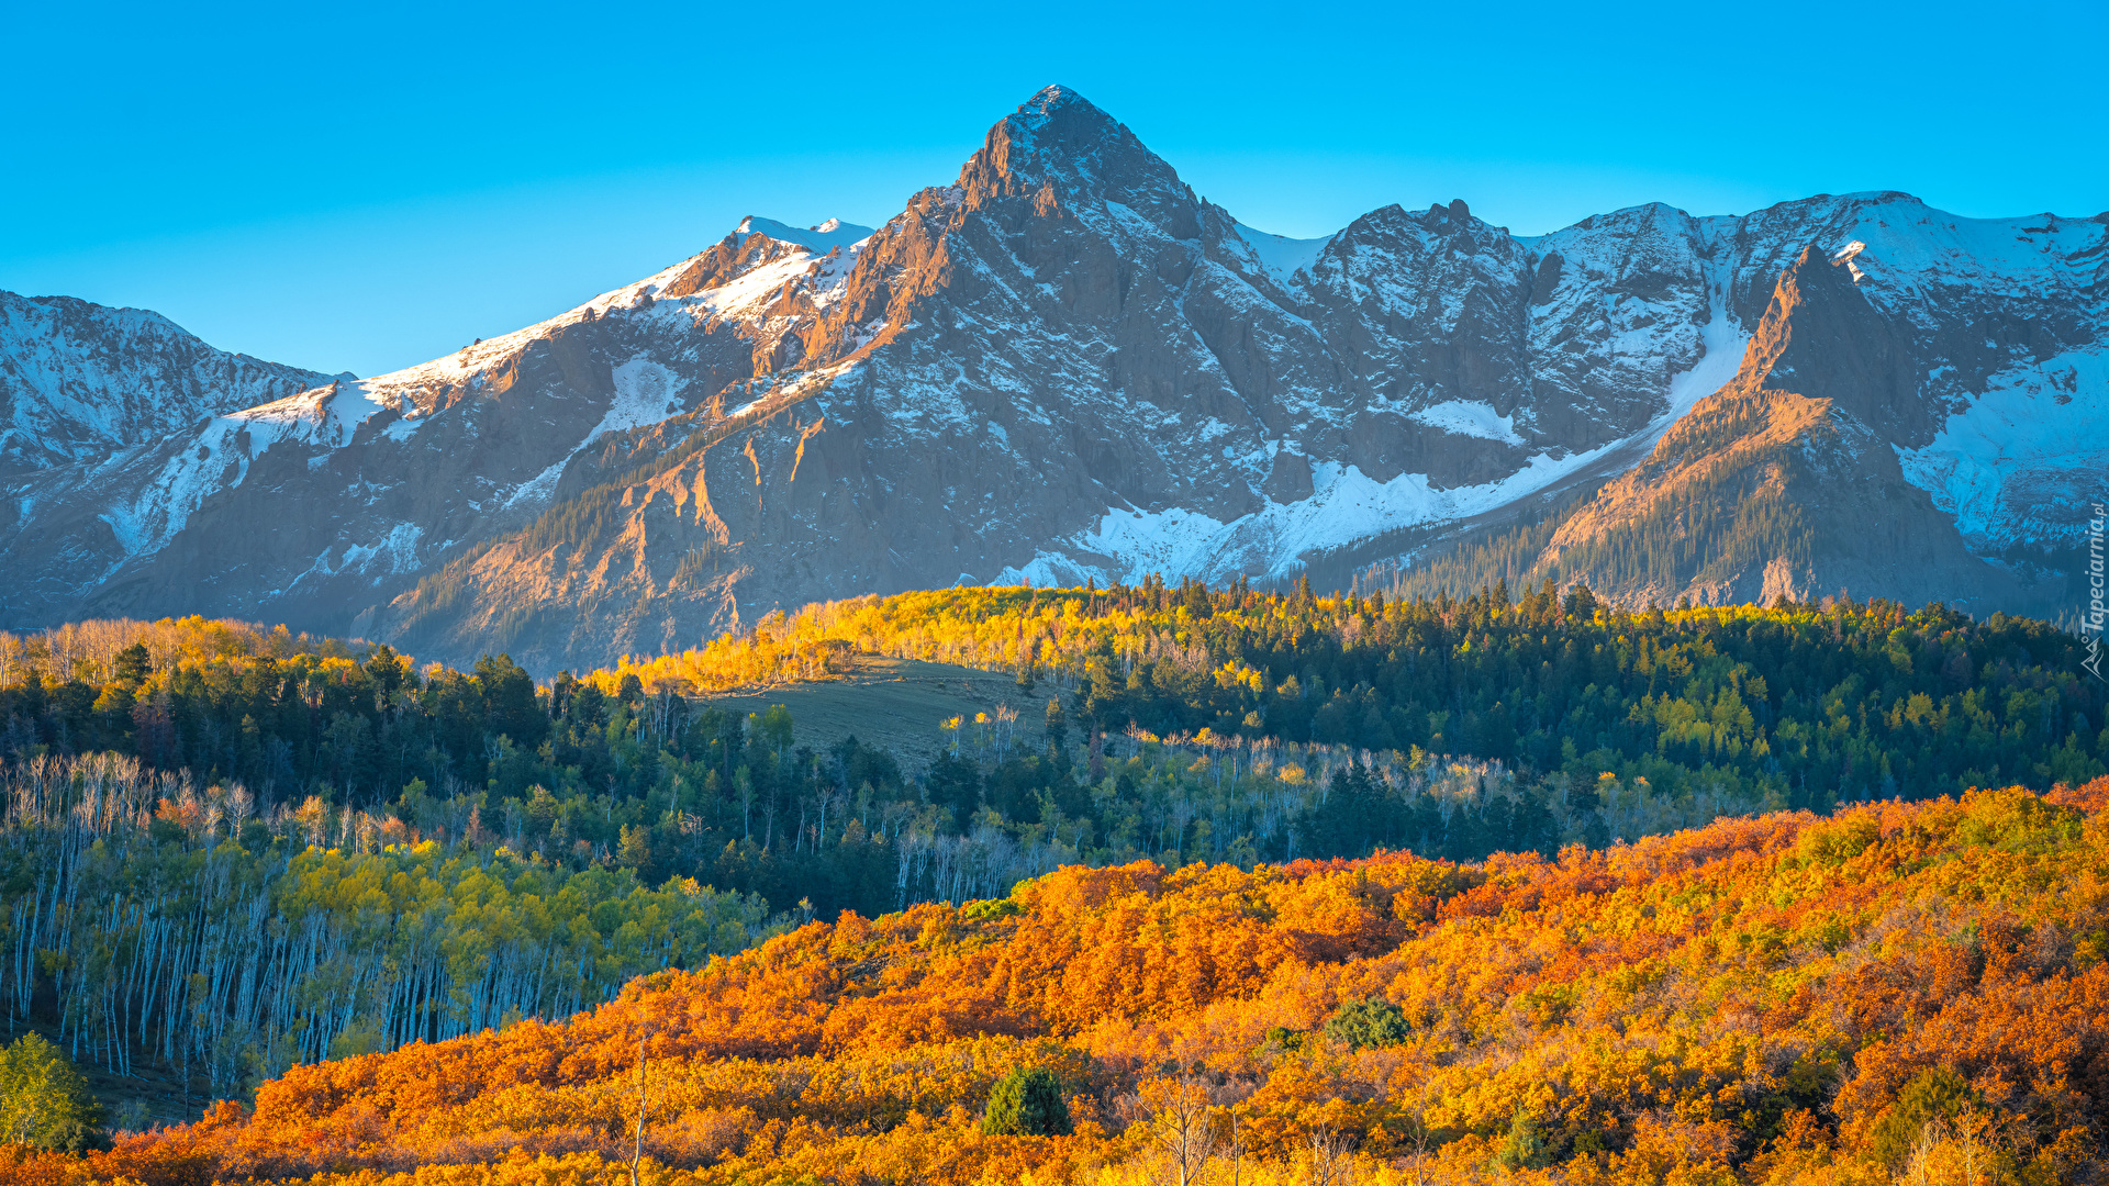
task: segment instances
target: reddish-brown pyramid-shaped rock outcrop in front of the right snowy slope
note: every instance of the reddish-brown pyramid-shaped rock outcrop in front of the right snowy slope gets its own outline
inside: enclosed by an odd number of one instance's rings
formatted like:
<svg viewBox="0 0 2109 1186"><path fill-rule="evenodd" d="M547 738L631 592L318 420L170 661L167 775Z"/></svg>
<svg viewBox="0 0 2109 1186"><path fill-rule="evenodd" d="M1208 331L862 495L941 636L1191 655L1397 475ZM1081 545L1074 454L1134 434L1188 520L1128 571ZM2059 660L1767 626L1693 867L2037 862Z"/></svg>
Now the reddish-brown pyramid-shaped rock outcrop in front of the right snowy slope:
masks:
<svg viewBox="0 0 2109 1186"><path fill-rule="evenodd" d="M1531 576L1660 604L1810 601L1839 589L2020 601L2023 582L1974 561L1907 479L1896 443L1932 437L1911 378L1930 371L1847 266L1805 249L1736 378L1563 521Z"/></svg>

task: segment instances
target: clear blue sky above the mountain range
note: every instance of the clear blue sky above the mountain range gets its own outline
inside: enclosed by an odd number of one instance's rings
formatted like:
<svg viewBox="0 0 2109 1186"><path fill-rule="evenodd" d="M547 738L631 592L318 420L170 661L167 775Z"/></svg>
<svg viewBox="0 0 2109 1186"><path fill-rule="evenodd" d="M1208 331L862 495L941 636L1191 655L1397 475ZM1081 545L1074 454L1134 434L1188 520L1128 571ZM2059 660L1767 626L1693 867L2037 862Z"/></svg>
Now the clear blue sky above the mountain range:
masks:
<svg viewBox="0 0 2109 1186"><path fill-rule="evenodd" d="M879 224L1046 82L1276 234L1466 198L2109 207L2109 4L11 4L0 287L378 374L740 215Z"/></svg>

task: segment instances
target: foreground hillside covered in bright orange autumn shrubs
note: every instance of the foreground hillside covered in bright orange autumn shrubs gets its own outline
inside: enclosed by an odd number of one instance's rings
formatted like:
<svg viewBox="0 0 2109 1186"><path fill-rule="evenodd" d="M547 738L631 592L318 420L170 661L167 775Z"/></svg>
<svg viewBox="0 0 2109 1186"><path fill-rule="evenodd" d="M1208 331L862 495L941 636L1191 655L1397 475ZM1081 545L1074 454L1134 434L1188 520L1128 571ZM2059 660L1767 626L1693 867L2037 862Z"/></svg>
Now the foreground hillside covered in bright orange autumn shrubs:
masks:
<svg viewBox="0 0 2109 1186"><path fill-rule="evenodd" d="M2092 1182L2105 806L2096 781L1556 859L1063 869L295 1068L11 1180ZM1069 1135L983 1131L1021 1068Z"/></svg>

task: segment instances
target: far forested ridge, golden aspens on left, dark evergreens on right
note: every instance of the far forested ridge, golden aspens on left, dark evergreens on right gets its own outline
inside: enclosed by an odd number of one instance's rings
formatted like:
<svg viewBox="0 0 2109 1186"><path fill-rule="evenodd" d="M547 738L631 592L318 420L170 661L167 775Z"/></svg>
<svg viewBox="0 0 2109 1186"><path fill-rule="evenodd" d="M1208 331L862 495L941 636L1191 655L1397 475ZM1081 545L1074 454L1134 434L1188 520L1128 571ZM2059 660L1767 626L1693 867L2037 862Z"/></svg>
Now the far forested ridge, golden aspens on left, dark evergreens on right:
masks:
<svg viewBox="0 0 2109 1186"><path fill-rule="evenodd" d="M2046 623L1879 599L1628 612L1552 582L1521 599L1495 585L1411 601L1312 597L1308 582L1291 595L1160 580L943 589L810 606L597 680L709 692L825 673L846 652L1052 682L1063 728L1086 730L1092 755L1114 732L1316 743L1818 812L2082 783L2109 755L2082 644Z"/></svg>

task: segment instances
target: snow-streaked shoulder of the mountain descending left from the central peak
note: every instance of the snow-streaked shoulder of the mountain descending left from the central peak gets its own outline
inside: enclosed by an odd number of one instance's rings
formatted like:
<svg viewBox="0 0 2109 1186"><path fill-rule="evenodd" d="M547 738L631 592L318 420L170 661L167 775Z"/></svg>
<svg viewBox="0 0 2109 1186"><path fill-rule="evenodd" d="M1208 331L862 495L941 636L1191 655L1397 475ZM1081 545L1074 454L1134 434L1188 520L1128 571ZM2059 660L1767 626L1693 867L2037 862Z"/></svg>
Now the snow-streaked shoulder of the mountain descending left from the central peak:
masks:
<svg viewBox="0 0 2109 1186"><path fill-rule="evenodd" d="M135 616L262 601L289 620L344 620L434 555L531 521L601 437L753 374L774 348L776 289L814 251L742 226L517 333L226 412L40 509L8 549L27 580L0 597L19 618L67 601ZM846 257L839 243L825 251Z"/></svg>

